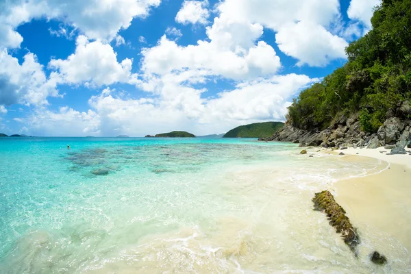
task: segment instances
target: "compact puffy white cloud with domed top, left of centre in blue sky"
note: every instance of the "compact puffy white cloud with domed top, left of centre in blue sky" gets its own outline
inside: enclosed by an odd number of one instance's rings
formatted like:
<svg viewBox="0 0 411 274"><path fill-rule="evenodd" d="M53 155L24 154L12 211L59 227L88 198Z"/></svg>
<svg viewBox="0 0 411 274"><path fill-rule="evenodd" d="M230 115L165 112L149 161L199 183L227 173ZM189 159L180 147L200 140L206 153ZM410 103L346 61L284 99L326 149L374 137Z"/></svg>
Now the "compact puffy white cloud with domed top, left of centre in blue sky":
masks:
<svg viewBox="0 0 411 274"><path fill-rule="evenodd" d="M129 82L132 75L133 60L126 58L117 62L114 49L100 40L89 42L86 36L76 40L75 53L66 60L51 60L49 68L58 70L52 75L58 83L110 85L116 82Z"/></svg>

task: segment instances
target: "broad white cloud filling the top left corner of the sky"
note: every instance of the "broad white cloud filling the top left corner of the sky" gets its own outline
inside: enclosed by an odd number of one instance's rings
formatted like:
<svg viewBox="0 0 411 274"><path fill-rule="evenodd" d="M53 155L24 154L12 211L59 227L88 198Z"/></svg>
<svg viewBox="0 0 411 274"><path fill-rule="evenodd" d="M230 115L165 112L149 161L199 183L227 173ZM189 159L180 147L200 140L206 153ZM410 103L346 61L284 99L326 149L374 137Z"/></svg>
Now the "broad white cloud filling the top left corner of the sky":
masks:
<svg viewBox="0 0 411 274"><path fill-rule="evenodd" d="M112 40L127 29L133 18L145 17L161 0L16 0L0 3L0 47L19 47L23 40L14 32L33 18L55 18L91 39Z"/></svg>

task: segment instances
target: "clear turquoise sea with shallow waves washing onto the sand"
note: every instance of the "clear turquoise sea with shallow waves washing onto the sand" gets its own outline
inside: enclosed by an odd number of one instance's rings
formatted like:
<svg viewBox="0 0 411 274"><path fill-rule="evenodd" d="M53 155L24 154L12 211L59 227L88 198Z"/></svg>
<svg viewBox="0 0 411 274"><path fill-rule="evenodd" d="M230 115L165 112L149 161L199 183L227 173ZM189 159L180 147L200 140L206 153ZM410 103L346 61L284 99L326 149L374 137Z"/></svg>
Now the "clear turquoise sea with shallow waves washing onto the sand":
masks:
<svg viewBox="0 0 411 274"><path fill-rule="evenodd" d="M0 273L407 273L395 238L366 227L354 258L310 201L386 165L298 152L253 139L1 139ZM377 247L395 260L375 268Z"/></svg>

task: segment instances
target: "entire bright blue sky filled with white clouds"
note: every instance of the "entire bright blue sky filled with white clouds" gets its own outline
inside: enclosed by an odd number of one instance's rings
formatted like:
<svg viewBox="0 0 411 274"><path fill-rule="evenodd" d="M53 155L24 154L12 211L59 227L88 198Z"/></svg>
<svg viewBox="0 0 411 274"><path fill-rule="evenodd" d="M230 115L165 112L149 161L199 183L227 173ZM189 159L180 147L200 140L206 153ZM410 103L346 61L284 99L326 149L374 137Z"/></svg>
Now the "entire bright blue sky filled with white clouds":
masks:
<svg viewBox="0 0 411 274"><path fill-rule="evenodd" d="M379 0L0 0L0 132L221 134L284 121Z"/></svg>

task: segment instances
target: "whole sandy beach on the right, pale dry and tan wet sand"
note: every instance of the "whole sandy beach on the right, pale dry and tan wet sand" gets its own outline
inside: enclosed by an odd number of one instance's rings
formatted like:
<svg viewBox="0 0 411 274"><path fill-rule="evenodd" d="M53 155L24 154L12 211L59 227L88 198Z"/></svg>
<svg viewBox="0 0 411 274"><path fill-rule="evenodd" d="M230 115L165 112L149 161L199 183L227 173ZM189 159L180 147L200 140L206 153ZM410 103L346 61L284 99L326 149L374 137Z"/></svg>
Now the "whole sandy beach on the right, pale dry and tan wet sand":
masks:
<svg viewBox="0 0 411 274"><path fill-rule="evenodd" d="M386 155L390 151L384 147L334 152L388 162L381 173L337 182L336 201L360 231L374 229L376 234L389 234L411 251L411 155Z"/></svg>

